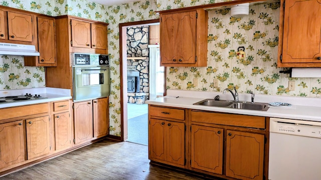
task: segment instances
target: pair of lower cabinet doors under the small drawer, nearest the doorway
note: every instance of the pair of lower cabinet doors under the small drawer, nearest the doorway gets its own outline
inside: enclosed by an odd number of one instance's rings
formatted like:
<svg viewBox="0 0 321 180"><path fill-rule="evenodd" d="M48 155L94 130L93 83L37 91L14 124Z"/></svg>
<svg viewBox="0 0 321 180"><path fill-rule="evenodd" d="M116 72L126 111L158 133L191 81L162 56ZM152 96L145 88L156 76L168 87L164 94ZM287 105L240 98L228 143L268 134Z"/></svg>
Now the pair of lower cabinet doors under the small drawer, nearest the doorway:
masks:
<svg viewBox="0 0 321 180"><path fill-rule="evenodd" d="M148 133L150 159L185 165L184 122L150 118Z"/></svg>

